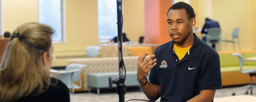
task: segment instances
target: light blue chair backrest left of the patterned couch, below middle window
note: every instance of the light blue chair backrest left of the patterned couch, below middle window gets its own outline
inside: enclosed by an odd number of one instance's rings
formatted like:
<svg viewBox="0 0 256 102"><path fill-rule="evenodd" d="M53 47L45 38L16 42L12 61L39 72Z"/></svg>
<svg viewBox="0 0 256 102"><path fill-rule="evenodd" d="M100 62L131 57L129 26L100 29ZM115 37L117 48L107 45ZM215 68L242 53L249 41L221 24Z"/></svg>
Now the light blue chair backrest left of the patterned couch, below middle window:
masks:
<svg viewBox="0 0 256 102"><path fill-rule="evenodd" d="M85 50L86 57L96 58L98 57L100 46L87 46Z"/></svg>

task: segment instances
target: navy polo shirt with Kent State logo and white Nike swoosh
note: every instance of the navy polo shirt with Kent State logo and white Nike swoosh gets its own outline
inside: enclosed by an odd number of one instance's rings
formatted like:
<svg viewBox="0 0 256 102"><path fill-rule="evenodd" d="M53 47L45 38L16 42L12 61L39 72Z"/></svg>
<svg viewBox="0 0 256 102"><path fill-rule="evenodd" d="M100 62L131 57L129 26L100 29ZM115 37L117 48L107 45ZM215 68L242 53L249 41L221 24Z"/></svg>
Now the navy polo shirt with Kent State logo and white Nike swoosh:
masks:
<svg viewBox="0 0 256 102"><path fill-rule="evenodd" d="M185 102L202 90L222 88L218 53L193 35L194 43L180 61L173 40L155 49L157 61L149 81L161 86L161 102Z"/></svg>

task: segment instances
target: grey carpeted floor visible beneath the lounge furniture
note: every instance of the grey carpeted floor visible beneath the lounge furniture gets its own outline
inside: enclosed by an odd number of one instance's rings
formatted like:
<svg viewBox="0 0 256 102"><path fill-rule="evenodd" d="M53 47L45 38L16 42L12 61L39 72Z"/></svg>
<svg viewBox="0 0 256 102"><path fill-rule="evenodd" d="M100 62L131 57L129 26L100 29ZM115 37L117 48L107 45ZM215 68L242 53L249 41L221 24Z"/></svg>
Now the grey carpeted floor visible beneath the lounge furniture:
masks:
<svg viewBox="0 0 256 102"><path fill-rule="evenodd" d="M232 96L232 93L235 87L223 87L222 89L216 90L215 98ZM71 102L119 102L119 97L113 89L101 89L100 95L97 95L97 91L94 90L91 93L88 92L78 92L75 94L70 94ZM236 95L243 95L246 91L246 88L242 88L236 91ZM250 92L249 92L250 93ZM256 89L253 90L253 95L256 96ZM125 99L130 98L139 98L147 99L144 93L139 88L127 88L127 93L124 95ZM158 99L157 101L160 101ZM129 102L143 102L143 101L129 101Z"/></svg>

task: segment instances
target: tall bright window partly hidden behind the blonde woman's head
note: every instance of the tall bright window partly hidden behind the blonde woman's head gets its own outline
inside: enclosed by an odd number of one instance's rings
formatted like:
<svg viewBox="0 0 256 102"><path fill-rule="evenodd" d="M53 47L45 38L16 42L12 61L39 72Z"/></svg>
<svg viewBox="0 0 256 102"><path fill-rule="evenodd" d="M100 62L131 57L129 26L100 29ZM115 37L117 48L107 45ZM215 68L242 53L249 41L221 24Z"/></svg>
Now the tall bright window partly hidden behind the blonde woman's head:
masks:
<svg viewBox="0 0 256 102"><path fill-rule="evenodd" d="M64 42L64 0L38 0L38 19L40 23L51 26L55 33L53 43Z"/></svg>

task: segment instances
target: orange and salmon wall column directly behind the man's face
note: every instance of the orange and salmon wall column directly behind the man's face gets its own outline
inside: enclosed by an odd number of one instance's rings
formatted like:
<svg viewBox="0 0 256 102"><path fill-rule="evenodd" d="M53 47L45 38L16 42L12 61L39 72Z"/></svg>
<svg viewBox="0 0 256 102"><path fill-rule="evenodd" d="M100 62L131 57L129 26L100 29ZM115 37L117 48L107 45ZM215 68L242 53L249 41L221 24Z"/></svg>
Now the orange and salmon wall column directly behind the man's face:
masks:
<svg viewBox="0 0 256 102"><path fill-rule="evenodd" d="M145 0L145 43L166 43L172 40L167 28L167 12L172 0ZM154 52L156 46L152 47Z"/></svg>

